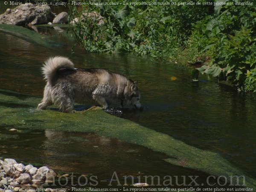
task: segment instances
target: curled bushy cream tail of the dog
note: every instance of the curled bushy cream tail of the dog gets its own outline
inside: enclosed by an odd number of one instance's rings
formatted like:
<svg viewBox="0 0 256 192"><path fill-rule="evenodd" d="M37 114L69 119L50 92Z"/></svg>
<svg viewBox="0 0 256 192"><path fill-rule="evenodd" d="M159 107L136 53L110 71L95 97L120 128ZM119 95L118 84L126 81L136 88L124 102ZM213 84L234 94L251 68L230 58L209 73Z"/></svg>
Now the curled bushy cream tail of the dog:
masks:
<svg viewBox="0 0 256 192"><path fill-rule="evenodd" d="M42 67L44 79L46 79L46 81L52 82L57 70L61 68L75 70L74 64L68 58L61 56L50 57L47 61L45 61Z"/></svg>

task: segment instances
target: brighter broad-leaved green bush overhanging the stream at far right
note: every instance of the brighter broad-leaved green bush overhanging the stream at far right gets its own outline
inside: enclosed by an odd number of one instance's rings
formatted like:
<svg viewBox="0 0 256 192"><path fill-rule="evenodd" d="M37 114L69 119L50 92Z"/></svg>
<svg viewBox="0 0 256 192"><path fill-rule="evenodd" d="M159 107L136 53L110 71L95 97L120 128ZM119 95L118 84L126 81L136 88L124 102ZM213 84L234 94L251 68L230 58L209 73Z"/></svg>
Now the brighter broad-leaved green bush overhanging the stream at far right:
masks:
<svg viewBox="0 0 256 192"><path fill-rule="evenodd" d="M231 81L241 90L256 91L255 16L255 6L226 5L201 27L204 36L197 42L207 44L203 51L209 49L212 56L212 65L199 69L202 73Z"/></svg>

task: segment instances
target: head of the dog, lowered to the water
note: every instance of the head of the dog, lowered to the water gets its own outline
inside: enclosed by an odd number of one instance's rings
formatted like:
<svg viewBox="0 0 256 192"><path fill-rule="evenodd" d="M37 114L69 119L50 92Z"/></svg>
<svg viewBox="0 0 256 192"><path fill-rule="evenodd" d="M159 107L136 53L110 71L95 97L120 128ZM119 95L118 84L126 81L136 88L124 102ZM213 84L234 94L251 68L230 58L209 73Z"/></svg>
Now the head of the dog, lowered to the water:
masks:
<svg viewBox="0 0 256 192"><path fill-rule="evenodd" d="M140 91L138 90L137 81L128 81L124 91L125 102L127 105L132 105L136 109L142 110L143 107L140 104Z"/></svg>

